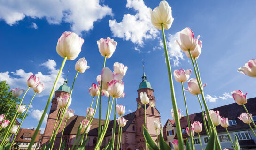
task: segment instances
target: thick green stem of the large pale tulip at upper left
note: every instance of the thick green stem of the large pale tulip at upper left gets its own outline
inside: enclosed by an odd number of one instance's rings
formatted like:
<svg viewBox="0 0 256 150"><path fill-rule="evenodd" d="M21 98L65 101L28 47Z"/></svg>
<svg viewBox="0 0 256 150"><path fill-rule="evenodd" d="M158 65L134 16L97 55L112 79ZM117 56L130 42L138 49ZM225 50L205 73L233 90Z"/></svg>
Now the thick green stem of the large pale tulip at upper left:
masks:
<svg viewBox="0 0 256 150"><path fill-rule="evenodd" d="M63 67L64 67L64 65L65 65L65 62L66 62L67 58L68 58L68 57L66 56L66 57L64 58L63 62L62 62L62 66L61 66L60 71L59 71L59 73L58 73L58 75L57 75L57 77L56 77L56 80L55 80L55 82L54 82L54 86L53 86L53 89L52 89L52 91L51 91L51 93L50 93L50 96L49 96L49 98L48 98L46 107L45 107L44 112L43 112L43 114L42 114L42 116L41 116L41 119L39 120L39 123L38 123L38 125L37 125L37 128L36 128L36 130L35 130L33 136L32 136L31 142L30 142L29 147L28 147L27 150L31 150L32 146L34 145L35 139L36 139L36 137L37 137L37 135L38 135L38 132L39 132L39 128L41 127L41 125L42 125L42 123L43 123L43 120L44 120L44 118L45 118L47 109L48 109L49 104L50 104L50 102L51 102L51 100L52 100L52 98L53 98L54 90L55 90L55 88L56 88L57 82L59 81L60 75L61 75L61 73L62 73L62 70L63 70Z"/></svg>

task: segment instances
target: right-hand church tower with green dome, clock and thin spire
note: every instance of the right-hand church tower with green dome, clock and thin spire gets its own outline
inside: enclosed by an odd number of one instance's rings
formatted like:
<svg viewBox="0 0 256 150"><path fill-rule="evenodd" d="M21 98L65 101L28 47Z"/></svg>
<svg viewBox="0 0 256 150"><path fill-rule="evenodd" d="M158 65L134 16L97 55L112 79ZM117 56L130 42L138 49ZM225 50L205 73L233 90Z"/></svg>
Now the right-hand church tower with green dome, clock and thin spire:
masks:
<svg viewBox="0 0 256 150"><path fill-rule="evenodd" d="M136 121L136 127L137 127L136 128L136 148L139 150L145 149L145 139L143 136L143 124L145 124L144 122L145 105L142 104L140 101L141 92L143 93L146 92L147 97L150 98L149 103L146 104L146 125L147 125L146 128L154 141L156 141L157 139L157 134L156 134L153 122L155 120L160 121L160 113L155 108L155 97L153 95L154 90L151 87L150 82L147 81L147 76L144 70L144 62L143 62L143 75L141 78L142 78L142 82L140 83L139 89L137 90L138 92L138 98L136 98L137 110L135 113L136 115L135 121ZM160 129L158 130L158 133L160 133Z"/></svg>

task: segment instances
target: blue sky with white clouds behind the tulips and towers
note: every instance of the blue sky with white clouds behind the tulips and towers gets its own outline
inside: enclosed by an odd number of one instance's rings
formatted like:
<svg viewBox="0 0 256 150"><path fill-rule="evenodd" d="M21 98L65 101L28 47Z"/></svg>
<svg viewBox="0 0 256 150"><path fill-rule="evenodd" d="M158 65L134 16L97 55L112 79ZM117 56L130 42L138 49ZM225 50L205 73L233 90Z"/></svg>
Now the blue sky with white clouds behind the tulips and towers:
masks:
<svg viewBox="0 0 256 150"><path fill-rule="evenodd" d="M190 60L181 52L178 45L174 44L174 40L178 38L177 32L190 27L195 36L201 35L202 53L198 63L202 82L207 83L204 90L205 95L209 95L207 96L209 108L233 103L234 100L230 97L230 92L233 90L248 92L248 98L255 97L255 79L238 73L237 68L255 58L256 1L167 1L172 7L174 17L171 28L165 30L172 72L174 69L192 69ZM110 37L114 38L118 45L113 56L107 59L106 67L113 70L116 61L128 66L124 76L126 96L118 99L118 104L125 105L126 113L137 109L137 90L143 73L141 62L144 59L146 75L154 89L155 106L160 111L162 123L164 124L167 118L171 118L171 94L161 42L162 33L151 25L149 15L149 8L155 8L159 2L157 0L77 0L72 3L63 0L54 4L50 0L0 2L0 80L7 80L11 88L25 89L28 76L38 74L42 82L47 85L47 89L34 98L30 116L24 121L22 128L37 126L37 120L46 105L52 82L63 60L56 52L56 44L64 31L76 32L85 39L85 43L78 58L66 62L58 86L66 77L69 65L68 80L69 86L72 85L76 73L75 63L79 58L85 57L90 66L84 74L78 74L75 83L70 105L70 108L75 110L75 114L86 114L85 108L90 105L92 99L88 88L93 82L96 83L96 76L101 74L103 57L98 51L96 41ZM195 78L194 70L191 77ZM184 110L185 115L181 85L174 81L174 86L178 108ZM24 99L25 103L29 103L32 94L30 90ZM189 113L201 111L196 96L186 92L186 98ZM107 104L105 97L103 104ZM103 109L103 116L105 110ZM42 128L45 128L45 123Z"/></svg>

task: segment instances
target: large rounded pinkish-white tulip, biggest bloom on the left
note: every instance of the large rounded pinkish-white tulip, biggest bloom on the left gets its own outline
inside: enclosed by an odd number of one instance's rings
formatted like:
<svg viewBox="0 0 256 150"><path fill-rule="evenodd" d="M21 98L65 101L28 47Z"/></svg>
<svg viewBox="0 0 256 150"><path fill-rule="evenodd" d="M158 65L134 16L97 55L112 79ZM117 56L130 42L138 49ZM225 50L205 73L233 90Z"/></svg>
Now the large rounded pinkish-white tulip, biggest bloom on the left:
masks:
<svg viewBox="0 0 256 150"><path fill-rule="evenodd" d="M57 43L57 53L68 60L74 60L81 52L84 39L73 32L64 32Z"/></svg>

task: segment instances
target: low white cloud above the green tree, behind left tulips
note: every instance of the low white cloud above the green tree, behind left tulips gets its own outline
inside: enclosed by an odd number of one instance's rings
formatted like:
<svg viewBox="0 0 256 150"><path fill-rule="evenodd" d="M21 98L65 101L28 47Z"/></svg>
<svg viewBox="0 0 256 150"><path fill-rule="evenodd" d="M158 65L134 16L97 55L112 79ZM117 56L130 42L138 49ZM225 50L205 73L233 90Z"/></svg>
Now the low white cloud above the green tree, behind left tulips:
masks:
<svg viewBox="0 0 256 150"><path fill-rule="evenodd" d="M54 60L48 60L41 64L42 67L45 67L49 70L48 75L43 75L41 72L36 73L35 75L40 78L40 82L45 84L45 90L42 93L37 94L37 96L49 95L52 87L54 85L55 79L58 75L59 70L57 70L56 62ZM27 89L27 80L32 72L25 72L23 69L16 70L15 72L0 72L0 81L6 80L11 88L20 87ZM15 77L16 76L16 77ZM57 83L56 88L59 88L63 84L64 78L60 76L60 79Z"/></svg>

